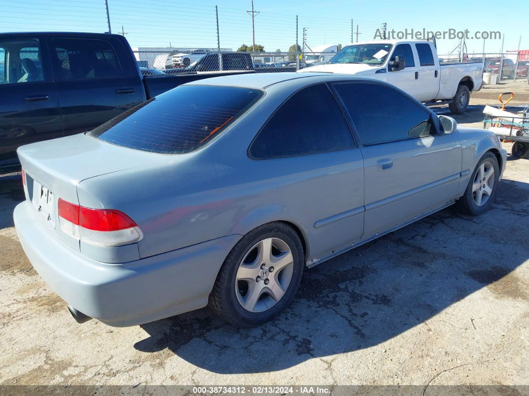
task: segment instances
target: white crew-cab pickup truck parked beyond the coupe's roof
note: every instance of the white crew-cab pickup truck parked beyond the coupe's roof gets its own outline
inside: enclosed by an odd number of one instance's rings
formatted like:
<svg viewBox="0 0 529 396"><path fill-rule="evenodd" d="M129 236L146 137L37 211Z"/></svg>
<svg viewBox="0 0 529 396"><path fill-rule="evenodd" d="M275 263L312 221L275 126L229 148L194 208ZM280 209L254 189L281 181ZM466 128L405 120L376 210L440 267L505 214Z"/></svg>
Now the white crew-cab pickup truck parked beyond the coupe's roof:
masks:
<svg viewBox="0 0 529 396"><path fill-rule="evenodd" d="M448 103L452 113L467 109L471 91L481 89L483 64L440 64L431 41L376 40L343 47L326 65L299 73L325 71L378 78L427 105Z"/></svg>

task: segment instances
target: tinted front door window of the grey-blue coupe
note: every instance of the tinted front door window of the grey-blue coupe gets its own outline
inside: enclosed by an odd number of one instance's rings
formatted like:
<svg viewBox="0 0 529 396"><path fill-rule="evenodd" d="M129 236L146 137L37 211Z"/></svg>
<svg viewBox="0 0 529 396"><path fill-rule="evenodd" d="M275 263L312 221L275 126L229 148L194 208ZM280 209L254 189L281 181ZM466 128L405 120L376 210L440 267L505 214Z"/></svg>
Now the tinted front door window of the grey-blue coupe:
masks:
<svg viewBox="0 0 529 396"><path fill-rule="evenodd" d="M430 134L430 114L394 89L367 83L335 84L334 87L364 145Z"/></svg>

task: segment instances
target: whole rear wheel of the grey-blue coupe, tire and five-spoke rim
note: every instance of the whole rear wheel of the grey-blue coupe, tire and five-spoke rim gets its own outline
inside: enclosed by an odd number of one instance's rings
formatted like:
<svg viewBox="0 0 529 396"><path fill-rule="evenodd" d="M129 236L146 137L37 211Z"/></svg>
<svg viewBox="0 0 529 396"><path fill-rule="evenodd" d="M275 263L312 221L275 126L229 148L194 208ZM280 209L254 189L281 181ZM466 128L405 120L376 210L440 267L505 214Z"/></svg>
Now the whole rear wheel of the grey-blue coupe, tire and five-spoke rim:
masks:
<svg viewBox="0 0 529 396"><path fill-rule="evenodd" d="M227 255L209 307L237 327L263 324L294 298L303 268L303 246L293 228L281 222L257 227Z"/></svg>

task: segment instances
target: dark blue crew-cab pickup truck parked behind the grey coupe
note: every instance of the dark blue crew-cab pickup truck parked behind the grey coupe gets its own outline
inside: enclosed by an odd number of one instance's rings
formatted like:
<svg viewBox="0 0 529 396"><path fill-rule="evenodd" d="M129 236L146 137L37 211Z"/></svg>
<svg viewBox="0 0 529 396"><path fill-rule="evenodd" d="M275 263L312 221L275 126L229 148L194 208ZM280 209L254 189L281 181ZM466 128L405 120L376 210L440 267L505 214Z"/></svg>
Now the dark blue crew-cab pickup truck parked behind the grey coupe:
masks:
<svg viewBox="0 0 529 396"><path fill-rule="evenodd" d="M138 65L118 34L0 33L0 173L20 168L22 144L91 130L168 89L212 76L142 76Z"/></svg>

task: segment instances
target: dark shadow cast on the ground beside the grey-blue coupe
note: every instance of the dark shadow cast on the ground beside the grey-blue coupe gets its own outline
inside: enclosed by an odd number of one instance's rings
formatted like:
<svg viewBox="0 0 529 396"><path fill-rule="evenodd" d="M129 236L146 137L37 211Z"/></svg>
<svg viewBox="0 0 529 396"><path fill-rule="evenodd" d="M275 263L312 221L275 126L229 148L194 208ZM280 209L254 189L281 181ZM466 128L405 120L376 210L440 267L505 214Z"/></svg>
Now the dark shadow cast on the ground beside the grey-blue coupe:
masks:
<svg viewBox="0 0 529 396"><path fill-rule="evenodd" d="M264 373L380 344L484 287L528 299L511 274L529 257L527 209L529 184L505 180L484 215L447 208L306 270L294 301L265 325L235 328L204 308L142 325L149 336L134 347L168 348L216 373ZM479 326L467 319L446 326Z"/></svg>

